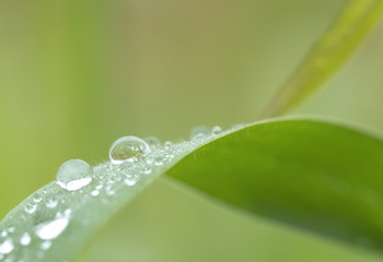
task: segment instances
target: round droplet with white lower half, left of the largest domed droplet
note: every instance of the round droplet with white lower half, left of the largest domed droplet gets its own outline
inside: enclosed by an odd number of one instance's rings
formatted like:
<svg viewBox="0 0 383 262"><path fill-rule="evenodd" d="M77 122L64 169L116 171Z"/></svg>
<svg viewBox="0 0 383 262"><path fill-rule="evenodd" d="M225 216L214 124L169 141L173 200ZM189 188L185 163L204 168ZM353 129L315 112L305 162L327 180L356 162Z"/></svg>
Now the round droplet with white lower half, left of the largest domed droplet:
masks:
<svg viewBox="0 0 383 262"><path fill-rule="evenodd" d="M79 190L92 182L93 169L83 160L71 159L57 171L56 183L68 191Z"/></svg>

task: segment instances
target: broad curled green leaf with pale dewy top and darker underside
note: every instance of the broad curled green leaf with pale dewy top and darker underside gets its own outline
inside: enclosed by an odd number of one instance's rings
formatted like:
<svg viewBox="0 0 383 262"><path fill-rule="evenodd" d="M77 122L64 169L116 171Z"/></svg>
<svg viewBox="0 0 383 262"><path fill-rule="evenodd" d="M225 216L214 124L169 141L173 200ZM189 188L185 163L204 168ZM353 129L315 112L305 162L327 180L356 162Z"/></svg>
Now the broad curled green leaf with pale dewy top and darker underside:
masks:
<svg viewBox="0 0 383 262"><path fill-rule="evenodd" d="M101 164L78 191L43 187L0 223L0 261L72 261L164 172L255 215L382 249L381 170L383 142L371 135L307 119L257 122L166 144L144 163Z"/></svg>

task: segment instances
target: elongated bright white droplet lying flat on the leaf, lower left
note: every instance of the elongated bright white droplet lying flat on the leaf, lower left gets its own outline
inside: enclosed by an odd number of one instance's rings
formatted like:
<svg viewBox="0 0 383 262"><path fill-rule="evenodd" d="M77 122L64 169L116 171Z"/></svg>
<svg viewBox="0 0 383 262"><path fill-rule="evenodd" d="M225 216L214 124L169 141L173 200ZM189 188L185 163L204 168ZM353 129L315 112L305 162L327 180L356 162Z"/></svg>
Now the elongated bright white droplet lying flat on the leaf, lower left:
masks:
<svg viewBox="0 0 383 262"><path fill-rule="evenodd" d="M35 233L40 239L55 239L67 228L69 218L70 210L67 210L65 214L58 213L54 219L38 224L35 227Z"/></svg>

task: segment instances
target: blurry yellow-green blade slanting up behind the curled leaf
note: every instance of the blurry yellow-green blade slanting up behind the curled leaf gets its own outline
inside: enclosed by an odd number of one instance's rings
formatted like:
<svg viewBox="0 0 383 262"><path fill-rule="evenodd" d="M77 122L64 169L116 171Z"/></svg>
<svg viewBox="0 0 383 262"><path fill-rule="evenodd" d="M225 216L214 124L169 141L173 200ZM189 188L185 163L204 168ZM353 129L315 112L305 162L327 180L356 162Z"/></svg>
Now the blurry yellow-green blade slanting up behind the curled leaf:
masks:
<svg viewBox="0 0 383 262"><path fill-rule="evenodd" d="M278 116L335 74L383 15L381 0L350 0L327 32L279 90L265 116Z"/></svg>

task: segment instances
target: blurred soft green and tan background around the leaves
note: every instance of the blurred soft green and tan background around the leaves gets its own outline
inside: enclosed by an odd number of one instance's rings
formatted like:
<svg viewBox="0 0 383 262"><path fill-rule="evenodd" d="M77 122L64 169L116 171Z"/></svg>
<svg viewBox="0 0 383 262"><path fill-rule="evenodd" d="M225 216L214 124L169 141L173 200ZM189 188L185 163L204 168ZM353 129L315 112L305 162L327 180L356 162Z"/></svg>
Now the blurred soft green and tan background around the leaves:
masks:
<svg viewBox="0 0 383 262"><path fill-rule="evenodd" d="M252 122L346 0L0 1L0 217L121 135ZM294 109L383 133L383 26ZM81 261L381 261L161 179Z"/></svg>

